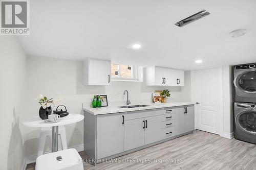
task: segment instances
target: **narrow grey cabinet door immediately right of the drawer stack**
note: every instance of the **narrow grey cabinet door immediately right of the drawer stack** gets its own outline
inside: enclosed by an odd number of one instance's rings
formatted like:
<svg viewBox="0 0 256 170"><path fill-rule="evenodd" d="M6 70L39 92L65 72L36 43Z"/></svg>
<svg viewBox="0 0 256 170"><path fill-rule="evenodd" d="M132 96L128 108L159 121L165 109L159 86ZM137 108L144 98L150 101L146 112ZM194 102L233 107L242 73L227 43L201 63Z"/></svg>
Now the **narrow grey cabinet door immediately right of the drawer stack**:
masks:
<svg viewBox="0 0 256 170"><path fill-rule="evenodd" d="M185 108L177 107L176 108L176 135L185 133L186 123L185 123Z"/></svg>

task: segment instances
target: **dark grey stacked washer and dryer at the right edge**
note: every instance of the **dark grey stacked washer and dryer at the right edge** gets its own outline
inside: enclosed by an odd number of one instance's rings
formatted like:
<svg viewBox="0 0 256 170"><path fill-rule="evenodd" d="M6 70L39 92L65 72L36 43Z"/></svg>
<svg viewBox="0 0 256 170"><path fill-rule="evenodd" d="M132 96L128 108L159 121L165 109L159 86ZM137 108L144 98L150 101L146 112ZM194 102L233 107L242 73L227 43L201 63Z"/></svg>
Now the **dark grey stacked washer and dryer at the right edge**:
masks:
<svg viewBox="0 0 256 170"><path fill-rule="evenodd" d="M234 138L256 144L256 63L234 66Z"/></svg>

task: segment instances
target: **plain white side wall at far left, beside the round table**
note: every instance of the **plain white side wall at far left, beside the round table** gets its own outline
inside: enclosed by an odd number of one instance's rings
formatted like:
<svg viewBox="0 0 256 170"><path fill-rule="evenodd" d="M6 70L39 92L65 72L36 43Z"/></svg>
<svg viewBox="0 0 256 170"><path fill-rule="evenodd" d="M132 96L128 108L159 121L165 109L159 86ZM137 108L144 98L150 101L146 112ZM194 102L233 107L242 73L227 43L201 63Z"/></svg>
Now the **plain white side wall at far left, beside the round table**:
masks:
<svg viewBox="0 0 256 170"><path fill-rule="evenodd" d="M26 56L16 37L0 36L0 169L20 169L24 142L20 117L26 114L24 101Z"/></svg>

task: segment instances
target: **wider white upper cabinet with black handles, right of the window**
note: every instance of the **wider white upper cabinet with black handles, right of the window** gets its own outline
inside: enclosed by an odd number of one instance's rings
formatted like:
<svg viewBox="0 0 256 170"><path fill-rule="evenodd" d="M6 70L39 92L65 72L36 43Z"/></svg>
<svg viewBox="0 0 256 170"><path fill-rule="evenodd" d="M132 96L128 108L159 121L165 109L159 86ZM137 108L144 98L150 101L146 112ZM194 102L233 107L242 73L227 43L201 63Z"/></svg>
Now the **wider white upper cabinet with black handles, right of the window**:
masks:
<svg viewBox="0 0 256 170"><path fill-rule="evenodd" d="M146 68L147 86L184 86L184 70L152 66Z"/></svg>

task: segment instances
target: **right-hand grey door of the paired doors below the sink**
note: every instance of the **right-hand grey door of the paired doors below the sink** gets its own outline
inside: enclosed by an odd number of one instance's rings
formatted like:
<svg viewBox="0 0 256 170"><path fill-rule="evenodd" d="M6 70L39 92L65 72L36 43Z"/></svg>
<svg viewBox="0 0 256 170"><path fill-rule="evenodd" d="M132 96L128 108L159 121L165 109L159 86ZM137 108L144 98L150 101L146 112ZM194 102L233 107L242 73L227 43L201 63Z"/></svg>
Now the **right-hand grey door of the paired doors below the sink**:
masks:
<svg viewBox="0 0 256 170"><path fill-rule="evenodd" d="M162 116L145 118L145 144L153 143L162 139Z"/></svg>

